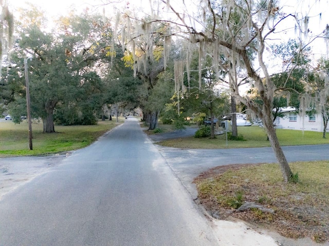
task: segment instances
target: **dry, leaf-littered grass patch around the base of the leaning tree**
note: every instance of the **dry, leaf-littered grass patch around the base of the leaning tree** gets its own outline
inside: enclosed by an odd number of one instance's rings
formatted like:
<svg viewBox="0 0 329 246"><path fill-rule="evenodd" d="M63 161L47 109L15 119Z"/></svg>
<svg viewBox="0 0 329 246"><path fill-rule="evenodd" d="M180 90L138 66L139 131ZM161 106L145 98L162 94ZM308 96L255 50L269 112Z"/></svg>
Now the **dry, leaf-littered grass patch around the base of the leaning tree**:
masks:
<svg viewBox="0 0 329 246"><path fill-rule="evenodd" d="M218 218L261 223L286 237L329 241L329 161L290 167L298 173L298 183L284 183L277 164L211 169L195 179L200 203ZM236 210L245 202L262 208Z"/></svg>

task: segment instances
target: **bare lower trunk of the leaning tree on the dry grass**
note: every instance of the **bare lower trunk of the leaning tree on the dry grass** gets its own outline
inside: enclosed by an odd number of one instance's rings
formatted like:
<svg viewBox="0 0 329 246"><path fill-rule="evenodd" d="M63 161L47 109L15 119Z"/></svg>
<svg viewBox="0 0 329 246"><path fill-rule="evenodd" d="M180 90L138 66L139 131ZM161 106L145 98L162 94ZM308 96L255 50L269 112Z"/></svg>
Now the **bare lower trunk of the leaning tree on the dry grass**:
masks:
<svg viewBox="0 0 329 246"><path fill-rule="evenodd" d="M271 112L270 112L271 113ZM272 149L276 155L276 158L279 162L280 169L283 175L283 179L285 182L288 182L290 178L293 176L293 172L291 172L288 161L282 151L282 148L279 144L279 139L276 133L276 129L273 125L273 121L270 116L265 116L263 119L264 128L267 132L268 139L271 143Z"/></svg>

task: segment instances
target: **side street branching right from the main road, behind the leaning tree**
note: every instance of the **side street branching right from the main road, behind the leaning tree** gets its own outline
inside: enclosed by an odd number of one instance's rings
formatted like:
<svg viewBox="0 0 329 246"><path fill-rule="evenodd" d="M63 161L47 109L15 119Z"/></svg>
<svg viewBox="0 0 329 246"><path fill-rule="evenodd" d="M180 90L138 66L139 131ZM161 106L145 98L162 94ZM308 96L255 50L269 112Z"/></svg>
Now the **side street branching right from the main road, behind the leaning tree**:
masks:
<svg viewBox="0 0 329 246"><path fill-rule="evenodd" d="M193 198L197 197L193 179L210 168L230 164L277 162L270 147L216 150L175 149L161 146L157 148ZM282 149L289 162L329 160L329 145L285 146Z"/></svg>

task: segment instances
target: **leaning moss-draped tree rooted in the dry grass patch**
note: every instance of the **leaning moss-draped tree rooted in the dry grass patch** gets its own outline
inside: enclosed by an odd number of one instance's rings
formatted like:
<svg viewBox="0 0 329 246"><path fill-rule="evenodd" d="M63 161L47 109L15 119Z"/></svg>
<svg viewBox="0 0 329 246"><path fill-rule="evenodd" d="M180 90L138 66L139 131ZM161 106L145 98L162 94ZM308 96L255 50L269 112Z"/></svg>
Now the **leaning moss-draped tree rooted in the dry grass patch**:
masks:
<svg viewBox="0 0 329 246"><path fill-rule="evenodd" d="M185 40L190 43L199 43L199 47L212 47L213 57L224 54L230 59L231 64L236 64L236 66L246 70L249 79L253 81L259 91L262 105L255 104L247 96L241 95L236 81L231 80L233 83L230 86L234 89L235 98L262 119L272 149L280 164L284 181L289 181L293 173L273 126L272 108L276 86L264 61L264 55L266 41L276 31L278 25L284 20L289 20L289 17L297 20L299 25L301 22L297 15L281 13L280 7L274 0L262 2L204 0L198 5L199 13L201 13L199 16L188 13L182 14L181 11L175 10L169 1L161 0L161 2L176 15L177 25L173 35L184 36ZM215 5L221 8L215 8ZM188 12L187 8L185 10ZM196 17L188 19L190 16ZM150 23L155 21L157 18L152 19ZM300 25L306 36L308 32L307 22L308 18L306 18L306 23ZM161 23L171 25L173 21L162 21ZM194 23L199 25L194 25ZM203 49L201 48L200 51ZM255 52L262 73L253 64L249 55L251 51ZM218 66L217 59L214 59L213 66Z"/></svg>

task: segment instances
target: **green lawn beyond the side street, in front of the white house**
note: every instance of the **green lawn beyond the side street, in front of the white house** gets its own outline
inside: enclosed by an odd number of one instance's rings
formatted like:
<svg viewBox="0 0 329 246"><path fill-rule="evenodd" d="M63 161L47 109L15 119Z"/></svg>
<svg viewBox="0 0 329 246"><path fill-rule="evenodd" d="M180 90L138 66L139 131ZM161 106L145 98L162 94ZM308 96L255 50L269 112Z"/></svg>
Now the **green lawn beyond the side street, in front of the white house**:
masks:
<svg viewBox="0 0 329 246"><path fill-rule="evenodd" d="M264 128L258 126L238 127L237 132L239 136L244 137L245 141L228 140L226 142L226 135L223 134L217 135L215 139L186 137L165 140L159 145L191 149L270 147ZM329 144L328 138L322 138L322 132L277 129L277 135L281 146Z"/></svg>

